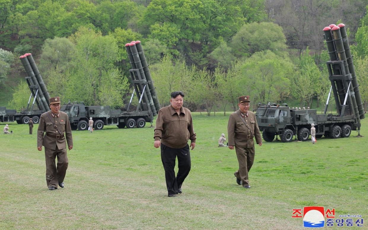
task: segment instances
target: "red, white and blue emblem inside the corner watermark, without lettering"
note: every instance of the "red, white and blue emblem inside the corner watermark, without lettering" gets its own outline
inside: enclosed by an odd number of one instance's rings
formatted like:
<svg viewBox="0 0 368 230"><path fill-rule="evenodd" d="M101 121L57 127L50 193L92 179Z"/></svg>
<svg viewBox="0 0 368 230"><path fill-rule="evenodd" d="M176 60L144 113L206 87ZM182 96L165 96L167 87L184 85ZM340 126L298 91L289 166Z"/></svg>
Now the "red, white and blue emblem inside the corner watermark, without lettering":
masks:
<svg viewBox="0 0 368 230"><path fill-rule="evenodd" d="M320 206L308 206L303 209L304 227L324 227L325 208Z"/></svg>

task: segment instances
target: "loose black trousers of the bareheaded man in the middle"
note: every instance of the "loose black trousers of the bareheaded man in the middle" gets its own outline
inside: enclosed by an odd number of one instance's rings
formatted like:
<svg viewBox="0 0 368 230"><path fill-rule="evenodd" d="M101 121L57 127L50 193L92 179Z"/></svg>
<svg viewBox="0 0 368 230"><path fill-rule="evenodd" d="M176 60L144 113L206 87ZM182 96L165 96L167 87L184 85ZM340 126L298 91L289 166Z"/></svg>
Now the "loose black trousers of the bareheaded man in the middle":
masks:
<svg viewBox="0 0 368 230"><path fill-rule="evenodd" d="M178 174L175 177L176 157L178 157ZM167 192L169 195L178 194L178 189L181 189L181 185L188 176L191 167L189 146L173 149L161 143L161 160L165 170Z"/></svg>

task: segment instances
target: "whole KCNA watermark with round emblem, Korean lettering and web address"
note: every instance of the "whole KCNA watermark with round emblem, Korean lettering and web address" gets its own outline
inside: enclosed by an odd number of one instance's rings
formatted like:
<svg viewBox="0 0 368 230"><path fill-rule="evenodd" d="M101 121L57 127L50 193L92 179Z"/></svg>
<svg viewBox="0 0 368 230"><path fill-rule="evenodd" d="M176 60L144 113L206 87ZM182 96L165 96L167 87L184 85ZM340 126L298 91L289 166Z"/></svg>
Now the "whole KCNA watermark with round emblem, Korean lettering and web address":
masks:
<svg viewBox="0 0 368 230"><path fill-rule="evenodd" d="M303 210L303 211L302 211ZM363 227L363 218L361 215L339 215L335 216L335 208L327 209L320 206L307 206L303 209L293 209L293 218L303 218L304 227L325 227L326 226L357 226ZM326 220L326 222L325 222Z"/></svg>

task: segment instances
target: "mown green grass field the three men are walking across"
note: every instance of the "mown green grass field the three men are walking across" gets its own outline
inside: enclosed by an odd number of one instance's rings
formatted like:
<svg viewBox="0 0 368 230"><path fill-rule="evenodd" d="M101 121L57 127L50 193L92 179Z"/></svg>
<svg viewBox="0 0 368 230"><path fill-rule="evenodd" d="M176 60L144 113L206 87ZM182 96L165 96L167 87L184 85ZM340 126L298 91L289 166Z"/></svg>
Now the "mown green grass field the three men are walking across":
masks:
<svg viewBox="0 0 368 230"><path fill-rule="evenodd" d="M315 145L256 146L251 189L236 184L235 150L217 147L227 119L194 113L197 145L176 197L167 197L149 124L73 131L65 187L49 191L44 151L36 149L38 125L29 135L28 125L10 123L14 134L0 134L0 229L305 229L302 218L291 218L292 209L304 206L335 208L336 218L362 215L367 229L368 119L362 138L353 131Z"/></svg>

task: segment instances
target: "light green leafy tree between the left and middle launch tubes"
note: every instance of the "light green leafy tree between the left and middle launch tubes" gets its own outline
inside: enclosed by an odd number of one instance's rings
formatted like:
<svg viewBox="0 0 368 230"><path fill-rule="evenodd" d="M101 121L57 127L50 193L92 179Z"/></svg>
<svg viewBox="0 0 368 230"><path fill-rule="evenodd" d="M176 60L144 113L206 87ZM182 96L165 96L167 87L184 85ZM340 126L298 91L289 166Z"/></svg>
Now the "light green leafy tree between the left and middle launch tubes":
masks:
<svg viewBox="0 0 368 230"><path fill-rule="evenodd" d="M86 105L123 106L123 95L128 90L127 78L114 66L118 47L112 36L102 36L88 28L80 28L70 41L75 44L71 58L60 61L46 78L50 94L61 95L64 100L83 101ZM60 41L48 41L53 43ZM65 43L67 41L62 40ZM45 54L47 48L45 44ZM62 87L60 87L62 85Z"/></svg>

